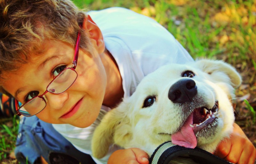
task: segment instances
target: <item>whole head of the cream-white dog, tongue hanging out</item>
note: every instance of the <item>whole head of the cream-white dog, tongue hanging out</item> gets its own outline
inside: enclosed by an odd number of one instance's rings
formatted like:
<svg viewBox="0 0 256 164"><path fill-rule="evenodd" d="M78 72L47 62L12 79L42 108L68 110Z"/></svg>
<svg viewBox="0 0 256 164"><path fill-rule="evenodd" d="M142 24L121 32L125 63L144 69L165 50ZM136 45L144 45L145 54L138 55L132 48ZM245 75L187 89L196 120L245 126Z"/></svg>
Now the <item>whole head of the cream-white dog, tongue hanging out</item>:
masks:
<svg viewBox="0 0 256 164"><path fill-rule="evenodd" d="M222 61L163 66L143 78L130 98L104 116L93 135L92 153L101 158L114 143L151 155L170 140L212 152L233 130L229 99L240 84L236 70Z"/></svg>

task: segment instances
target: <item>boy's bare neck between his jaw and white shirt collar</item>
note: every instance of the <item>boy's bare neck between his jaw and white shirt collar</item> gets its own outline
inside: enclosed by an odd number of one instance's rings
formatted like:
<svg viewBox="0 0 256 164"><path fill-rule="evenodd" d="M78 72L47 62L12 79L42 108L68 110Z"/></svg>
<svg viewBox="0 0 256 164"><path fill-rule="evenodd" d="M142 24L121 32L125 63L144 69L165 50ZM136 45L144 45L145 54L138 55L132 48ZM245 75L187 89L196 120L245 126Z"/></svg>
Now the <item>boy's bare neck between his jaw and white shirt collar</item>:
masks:
<svg viewBox="0 0 256 164"><path fill-rule="evenodd" d="M107 107L114 108L124 97L122 77L116 60L107 49L105 49L104 53L101 54L100 57L107 74L107 87L102 104Z"/></svg>

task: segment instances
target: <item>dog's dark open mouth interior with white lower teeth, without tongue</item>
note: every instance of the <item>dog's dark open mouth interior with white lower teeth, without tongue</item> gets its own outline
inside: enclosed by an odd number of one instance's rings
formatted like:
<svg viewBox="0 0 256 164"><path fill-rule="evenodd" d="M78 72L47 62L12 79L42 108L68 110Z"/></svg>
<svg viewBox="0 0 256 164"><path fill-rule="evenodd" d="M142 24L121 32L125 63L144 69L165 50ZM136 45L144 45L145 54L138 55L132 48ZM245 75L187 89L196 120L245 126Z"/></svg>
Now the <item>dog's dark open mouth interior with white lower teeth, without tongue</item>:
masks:
<svg viewBox="0 0 256 164"><path fill-rule="evenodd" d="M214 106L209 109L207 107L196 108L193 112L193 125L189 124L196 134L199 130L206 128L213 123L219 109L219 102L216 101Z"/></svg>

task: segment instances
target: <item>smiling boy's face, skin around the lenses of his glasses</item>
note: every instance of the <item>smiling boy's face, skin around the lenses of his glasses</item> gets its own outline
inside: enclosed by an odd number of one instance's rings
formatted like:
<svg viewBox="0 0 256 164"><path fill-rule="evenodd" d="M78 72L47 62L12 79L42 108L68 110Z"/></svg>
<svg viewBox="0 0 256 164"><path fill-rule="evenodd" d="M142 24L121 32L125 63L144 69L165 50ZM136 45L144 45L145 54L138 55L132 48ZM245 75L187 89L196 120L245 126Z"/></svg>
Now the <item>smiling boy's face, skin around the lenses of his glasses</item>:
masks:
<svg viewBox="0 0 256 164"><path fill-rule="evenodd" d="M92 43L96 47L96 43ZM19 71L8 73L4 89L24 103L36 93L41 95L53 79L56 68L71 67L74 48L57 41L45 42L47 51L32 55L31 62L23 64ZM60 94L46 93L46 107L36 116L48 123L68 123L87 127L97 118L106 89L106 72L99 52L93 48L92 57L79 51L74 84Z"/></svg>

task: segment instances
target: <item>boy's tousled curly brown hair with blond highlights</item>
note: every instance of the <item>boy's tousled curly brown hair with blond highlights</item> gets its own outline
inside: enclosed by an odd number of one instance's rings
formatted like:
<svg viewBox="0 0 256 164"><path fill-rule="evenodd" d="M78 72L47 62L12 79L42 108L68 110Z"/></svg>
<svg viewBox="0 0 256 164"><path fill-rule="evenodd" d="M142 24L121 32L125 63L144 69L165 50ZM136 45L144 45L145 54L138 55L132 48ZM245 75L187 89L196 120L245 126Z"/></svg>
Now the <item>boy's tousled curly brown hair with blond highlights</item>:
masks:
<svg viewBox="0 0 256 164"><path fill-rule="evenodd" d="M41 54L45 40L75 45L79 24L86 17L70 0L0 0L0 80ZM81 33L80 47L87 52L89 39ZM0 92L5 92L0 87Z"/></svg>

